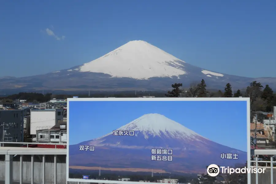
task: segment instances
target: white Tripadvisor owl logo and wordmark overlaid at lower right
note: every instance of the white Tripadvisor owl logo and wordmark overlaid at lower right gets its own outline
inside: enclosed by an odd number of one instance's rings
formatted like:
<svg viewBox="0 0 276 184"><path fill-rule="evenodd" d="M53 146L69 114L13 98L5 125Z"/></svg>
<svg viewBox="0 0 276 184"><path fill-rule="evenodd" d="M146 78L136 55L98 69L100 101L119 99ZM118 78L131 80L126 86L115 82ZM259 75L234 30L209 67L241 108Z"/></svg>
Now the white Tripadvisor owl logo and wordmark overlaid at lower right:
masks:
<svg viewBox="0 0 276 184"><path fill-rule="evenodd" d="M207 174L209 176L217 176L218 174L233 174L233 173L265 173L266 168L230 168L230 167L218 167L216 164L211 164L207 167Z"/></svg>

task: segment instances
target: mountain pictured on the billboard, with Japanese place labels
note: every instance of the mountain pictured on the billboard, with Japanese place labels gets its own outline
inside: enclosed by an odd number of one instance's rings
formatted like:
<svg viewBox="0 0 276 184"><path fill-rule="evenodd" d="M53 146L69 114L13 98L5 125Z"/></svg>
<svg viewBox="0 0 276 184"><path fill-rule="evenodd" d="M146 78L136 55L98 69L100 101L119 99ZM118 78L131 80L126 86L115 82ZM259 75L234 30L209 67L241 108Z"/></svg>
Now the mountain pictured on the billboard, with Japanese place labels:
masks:
<svg viewBox="0 0 276 184"><path fill-rule="evenodd" d="M69 168L203 173L206 166L213 163L235 167L245 165L247 160L246 152L213 142L161 114L145 114L117 130L134 131L134 136L114 136L112 131L69 145ZM79 151L80 145L93 145L94 151ZM152 160L151 149L173 150L173 161ZM239 156L238 159L221 159L221 153Z"/></svg>

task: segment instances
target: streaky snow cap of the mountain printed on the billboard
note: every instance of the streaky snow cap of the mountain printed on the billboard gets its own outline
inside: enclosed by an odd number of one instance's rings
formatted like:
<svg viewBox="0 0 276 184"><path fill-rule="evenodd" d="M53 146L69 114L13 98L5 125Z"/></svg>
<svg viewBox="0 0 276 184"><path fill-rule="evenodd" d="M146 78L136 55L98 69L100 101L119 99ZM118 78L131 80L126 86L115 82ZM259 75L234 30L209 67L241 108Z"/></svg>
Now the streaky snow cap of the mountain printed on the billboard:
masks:
<svg viewBox="0 0 276 184"><path fill-rule="evenodd" d="M161 115L145 114L117 130L134 130L143 133L147 139L151 136L165 136L167 138L194 138L202 137L185 126ZM113 133L113 132L112 132ZM112 134L110 133L110 134ZM109 135L109 134L108 134ZM107 136L107 135L106 135Z"/></svg>

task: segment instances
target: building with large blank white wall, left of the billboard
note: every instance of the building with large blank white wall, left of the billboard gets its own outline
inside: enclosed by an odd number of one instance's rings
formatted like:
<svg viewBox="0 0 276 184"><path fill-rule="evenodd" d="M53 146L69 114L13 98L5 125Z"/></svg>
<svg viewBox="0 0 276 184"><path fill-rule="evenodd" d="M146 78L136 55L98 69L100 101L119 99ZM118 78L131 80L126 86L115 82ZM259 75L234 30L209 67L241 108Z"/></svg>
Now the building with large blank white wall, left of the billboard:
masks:
<svg viewBox="0 0 276 184"><path fill-rule="evenodd" d="M63 109L31 109L30 134L36 137L36 130L49 129L63 120Z"/></svg>

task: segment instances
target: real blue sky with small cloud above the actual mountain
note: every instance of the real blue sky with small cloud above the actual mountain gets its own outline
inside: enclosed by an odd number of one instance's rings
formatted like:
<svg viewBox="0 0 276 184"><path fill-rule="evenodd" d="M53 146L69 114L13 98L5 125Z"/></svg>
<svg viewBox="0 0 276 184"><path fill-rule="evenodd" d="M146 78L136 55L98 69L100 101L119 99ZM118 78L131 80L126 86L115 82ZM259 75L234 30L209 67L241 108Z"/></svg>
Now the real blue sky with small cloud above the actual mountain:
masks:
<svg viewBox="0 0 276 184"><path fill-rule="evenodd" d="M130 40L207 70L276 77L275 7L259 0L2 1L0 77L67 69Z"/></svg>

